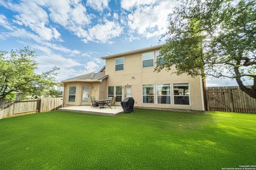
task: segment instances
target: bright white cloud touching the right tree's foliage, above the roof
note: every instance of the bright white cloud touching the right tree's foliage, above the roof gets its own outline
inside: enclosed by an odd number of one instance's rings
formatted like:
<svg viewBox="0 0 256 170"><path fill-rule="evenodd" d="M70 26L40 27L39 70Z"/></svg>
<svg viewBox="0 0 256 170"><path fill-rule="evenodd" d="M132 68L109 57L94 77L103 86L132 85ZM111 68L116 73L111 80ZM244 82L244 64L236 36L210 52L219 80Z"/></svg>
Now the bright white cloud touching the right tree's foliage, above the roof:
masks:
<svg viewBox="0 0 256 170"><path fill-rule="evenodd" d="M131 31L146 38L161 35L167 29L167 17L173 6L172 1L137 6L128 15L128 25Z"/></svg>

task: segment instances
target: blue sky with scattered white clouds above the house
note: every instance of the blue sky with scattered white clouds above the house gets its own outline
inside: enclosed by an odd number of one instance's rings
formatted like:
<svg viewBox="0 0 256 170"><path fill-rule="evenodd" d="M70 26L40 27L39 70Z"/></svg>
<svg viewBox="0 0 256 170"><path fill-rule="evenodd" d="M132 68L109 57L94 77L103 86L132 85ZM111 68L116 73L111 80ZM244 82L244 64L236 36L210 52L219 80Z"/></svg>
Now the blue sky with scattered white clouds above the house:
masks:
<svg viewBox="0 0 256 170"><path fill-rule="evenodd" d="M0 0L0 50L29 46L39 71L61 68L58 80L97 72L105 65L101 56L158 45L174 5L172 0Z"/></svg>

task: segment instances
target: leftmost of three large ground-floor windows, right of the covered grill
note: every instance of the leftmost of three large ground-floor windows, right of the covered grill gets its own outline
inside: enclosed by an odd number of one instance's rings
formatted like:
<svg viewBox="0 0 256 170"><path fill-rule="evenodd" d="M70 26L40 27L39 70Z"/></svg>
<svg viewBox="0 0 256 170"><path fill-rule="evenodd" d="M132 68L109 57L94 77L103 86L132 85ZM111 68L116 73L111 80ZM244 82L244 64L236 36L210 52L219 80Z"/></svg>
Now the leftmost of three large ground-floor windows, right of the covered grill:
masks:
<svg viewBox="0 0 256 170"><path fill-rule="evenodd" d="M154 84L142 86L142 103L155 103L155 88Z"/></svg>

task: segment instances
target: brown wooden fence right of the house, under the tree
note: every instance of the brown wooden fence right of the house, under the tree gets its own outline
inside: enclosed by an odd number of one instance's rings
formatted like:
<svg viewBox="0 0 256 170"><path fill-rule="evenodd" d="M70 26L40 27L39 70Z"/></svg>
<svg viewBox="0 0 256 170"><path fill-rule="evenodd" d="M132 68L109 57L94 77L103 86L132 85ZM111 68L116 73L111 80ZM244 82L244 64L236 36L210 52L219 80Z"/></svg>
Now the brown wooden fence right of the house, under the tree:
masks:
<svg viewBox="0 0 256 170"><path fill-rule="evenodd" d="M256 99L238 86L207 87L207 111L256 113Z"/></svg>

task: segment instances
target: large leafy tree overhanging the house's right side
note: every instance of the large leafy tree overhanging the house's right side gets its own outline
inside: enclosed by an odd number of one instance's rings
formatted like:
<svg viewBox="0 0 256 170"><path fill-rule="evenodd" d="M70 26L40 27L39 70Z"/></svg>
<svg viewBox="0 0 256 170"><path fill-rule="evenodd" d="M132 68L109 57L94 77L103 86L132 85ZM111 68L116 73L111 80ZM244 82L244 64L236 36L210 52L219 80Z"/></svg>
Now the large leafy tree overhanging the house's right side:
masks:
<svg viewBox="0 0 256 170"><path fill-rule="evenodd" d="M235 79L256 98L256 2L254 0L181 1L169 15L159 57L162 69L178 75ZM245 86L246 79L253 80Z"/></svg>

